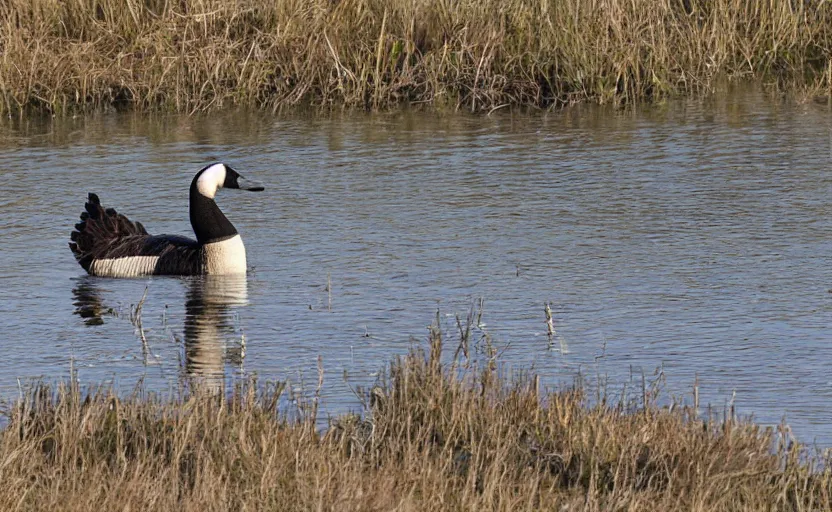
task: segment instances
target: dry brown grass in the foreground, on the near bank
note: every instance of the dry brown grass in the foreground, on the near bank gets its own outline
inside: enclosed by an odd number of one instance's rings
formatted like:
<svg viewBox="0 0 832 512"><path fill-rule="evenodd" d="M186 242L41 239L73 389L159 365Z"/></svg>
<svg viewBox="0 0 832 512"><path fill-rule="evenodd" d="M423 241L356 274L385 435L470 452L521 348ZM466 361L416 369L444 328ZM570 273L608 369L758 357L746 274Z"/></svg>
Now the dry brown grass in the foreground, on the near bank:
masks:
<svg viewBox="0 0 832 512"><path fill-rule="evenodd" d="M316 429L282 387L227 400L36 389L0 431L2 510L829 510L832 475L771 430L590 406L430 351ZM456 345L456 343L455 343ZM463 347L464 348L464 347ZM458 351L461 355L466 350Z"/></svg>

